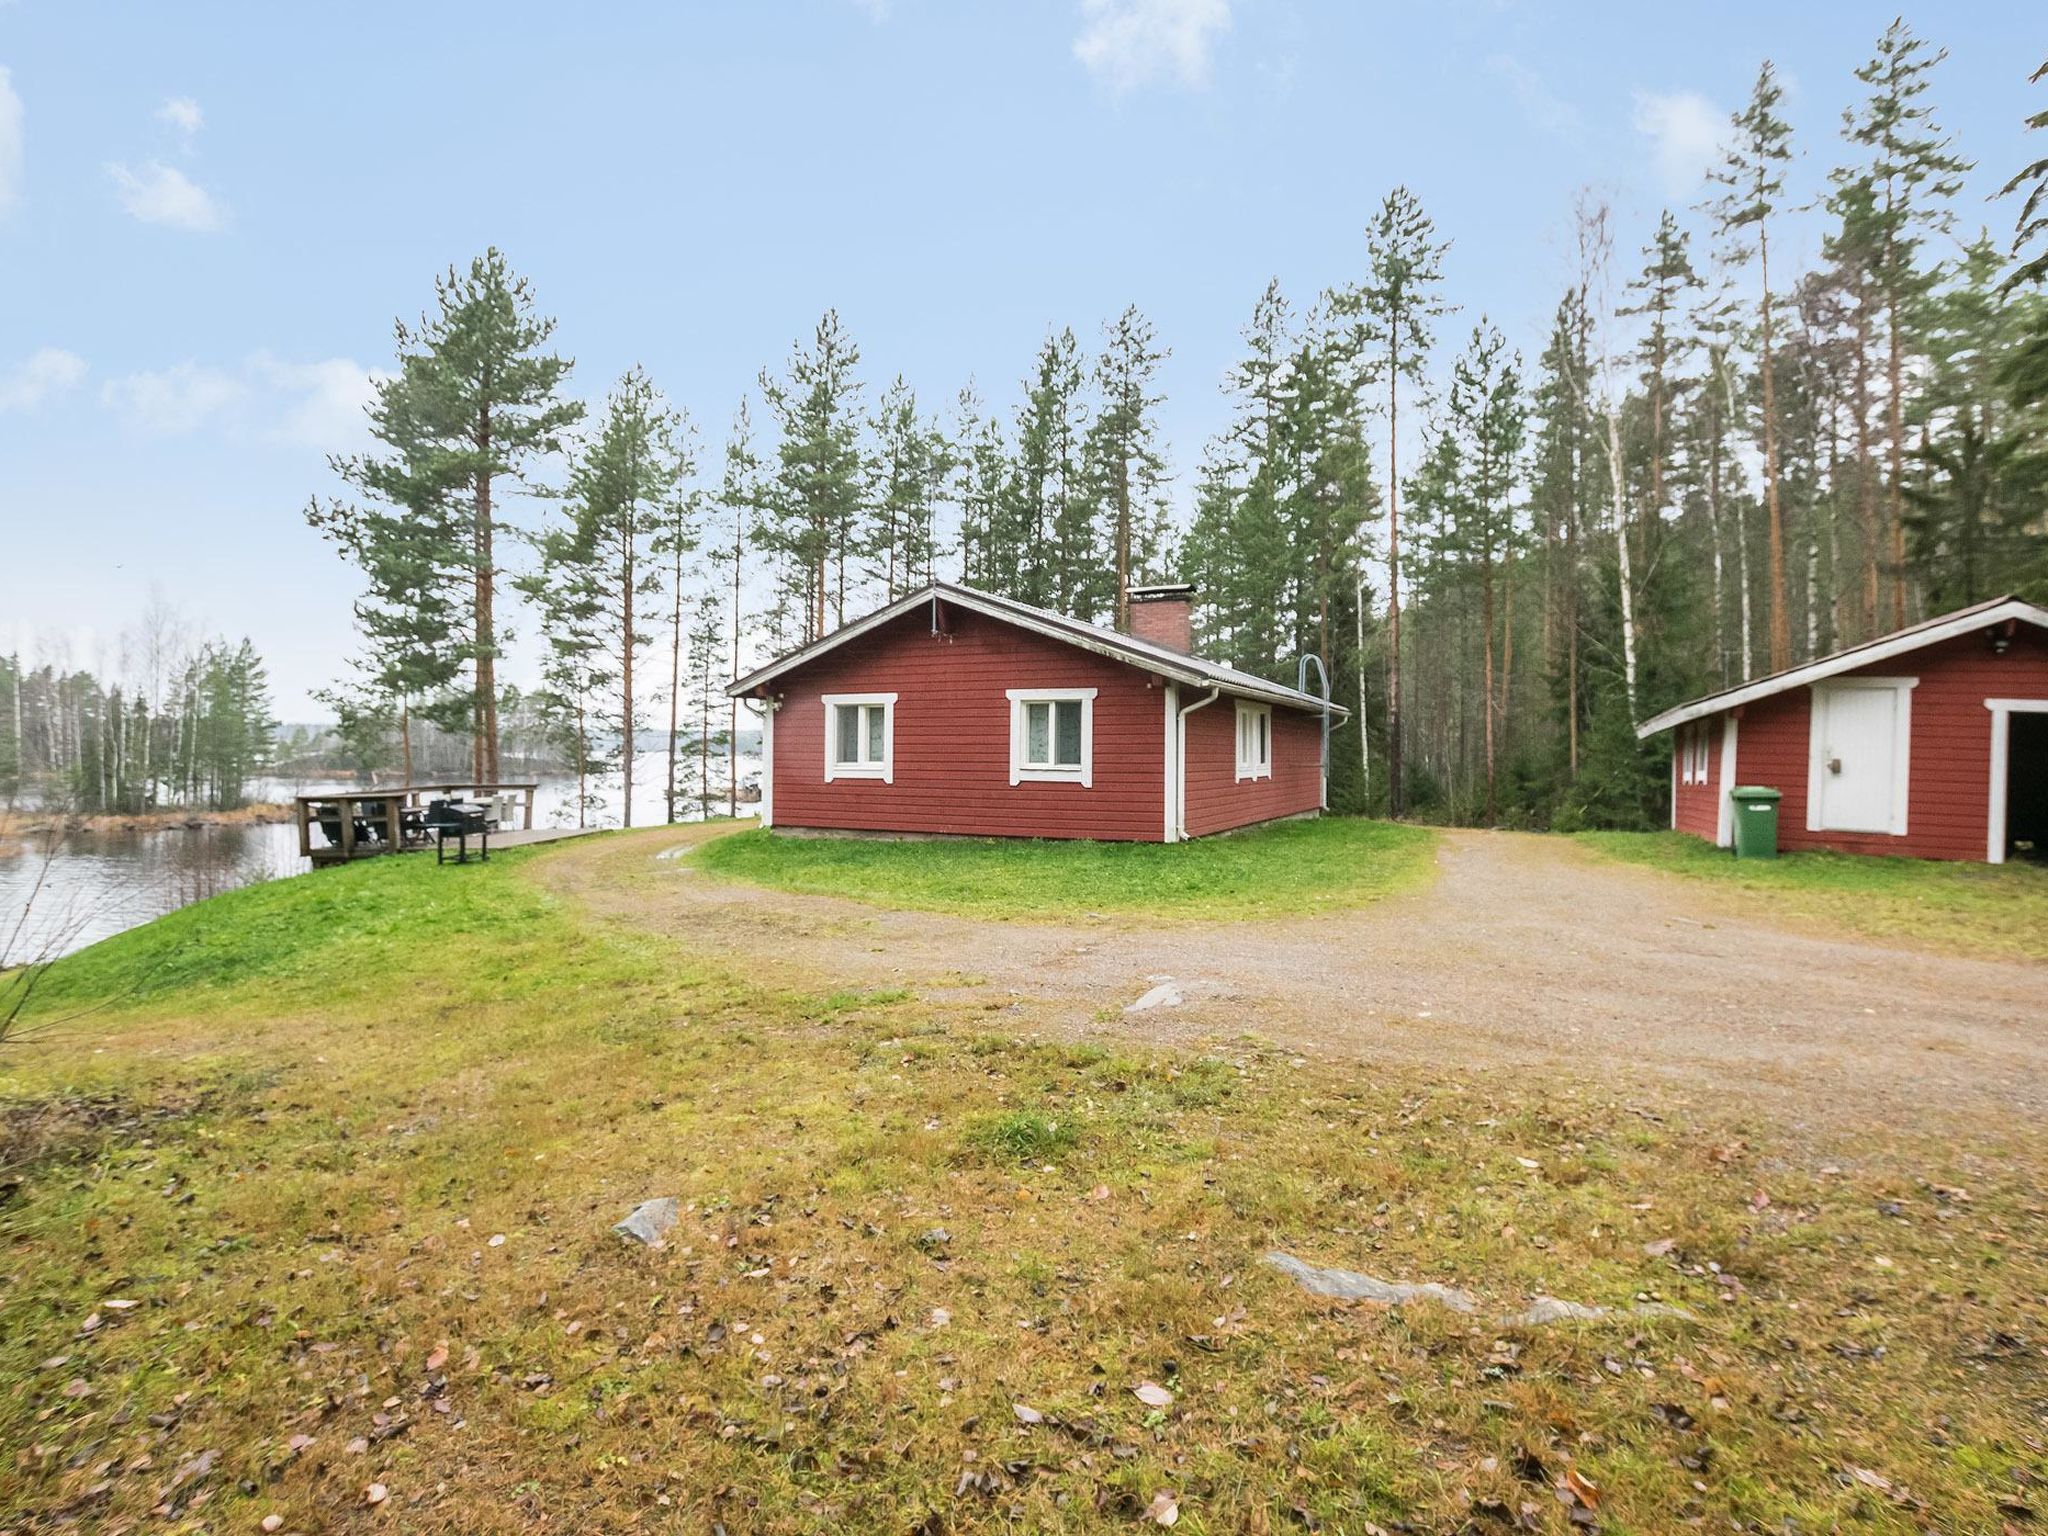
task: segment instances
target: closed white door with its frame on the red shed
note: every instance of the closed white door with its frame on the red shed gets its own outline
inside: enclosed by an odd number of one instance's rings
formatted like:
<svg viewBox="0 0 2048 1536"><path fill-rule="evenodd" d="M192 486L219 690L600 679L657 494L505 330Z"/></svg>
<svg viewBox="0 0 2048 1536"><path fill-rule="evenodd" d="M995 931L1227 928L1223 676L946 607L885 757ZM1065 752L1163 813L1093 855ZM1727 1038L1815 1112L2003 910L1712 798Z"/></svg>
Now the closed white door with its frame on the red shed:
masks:
<svg viewBox="0 0 2048 1536"><path fill-rule="evenodd" d="M1919 678L1829 678L1812 684L1806 831L1907 836L1917 686Z"/></svg>

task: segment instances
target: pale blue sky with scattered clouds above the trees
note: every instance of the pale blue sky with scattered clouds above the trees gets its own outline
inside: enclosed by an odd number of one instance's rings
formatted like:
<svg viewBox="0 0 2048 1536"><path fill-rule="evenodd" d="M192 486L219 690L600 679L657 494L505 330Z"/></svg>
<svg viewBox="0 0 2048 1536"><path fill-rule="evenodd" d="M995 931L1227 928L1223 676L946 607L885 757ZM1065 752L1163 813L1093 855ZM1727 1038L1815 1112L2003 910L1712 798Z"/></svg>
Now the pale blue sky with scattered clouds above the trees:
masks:
<svg viewBox="0 0 2048 1536"><path fill-rule="evenodd" d="M299 510L360 446L432 274L496 244L575 387L645 365L715 459L827 305L879 391L1006 406L1049 324L1137 303L1182 479L1270 276L1358 274L1397 182L1454 242L1448 334L1534 350L1573 195L1632 260L1772 55L1810 193L1884 4L0 0L0 645L113 655L160 590L248 633L287 719L350 651ZM481 25L479 25L481 20ZM1925 8L1964 219L2028 152L2036 4ZM2042 147L2034 145L2034 154ZM1810 236L1788 229L1796 256ZM1626 264L1626 262L1624 262ZM522 668L514 657L514 674Z"/></svg>

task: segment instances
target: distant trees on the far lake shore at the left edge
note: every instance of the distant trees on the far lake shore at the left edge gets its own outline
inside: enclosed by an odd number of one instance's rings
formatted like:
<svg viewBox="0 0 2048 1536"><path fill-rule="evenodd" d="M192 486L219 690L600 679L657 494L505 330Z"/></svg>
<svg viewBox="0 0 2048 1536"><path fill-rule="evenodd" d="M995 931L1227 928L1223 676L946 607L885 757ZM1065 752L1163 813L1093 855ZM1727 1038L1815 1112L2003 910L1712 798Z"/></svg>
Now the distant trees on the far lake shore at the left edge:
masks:
<svg viewBox="0 0 2048 1536"><path fill-rule="evenodd" d="M80 815L244 803L276 735L256 649L195 643L156 612L125 651L109 676L0 655L0 803Z"/></svg>

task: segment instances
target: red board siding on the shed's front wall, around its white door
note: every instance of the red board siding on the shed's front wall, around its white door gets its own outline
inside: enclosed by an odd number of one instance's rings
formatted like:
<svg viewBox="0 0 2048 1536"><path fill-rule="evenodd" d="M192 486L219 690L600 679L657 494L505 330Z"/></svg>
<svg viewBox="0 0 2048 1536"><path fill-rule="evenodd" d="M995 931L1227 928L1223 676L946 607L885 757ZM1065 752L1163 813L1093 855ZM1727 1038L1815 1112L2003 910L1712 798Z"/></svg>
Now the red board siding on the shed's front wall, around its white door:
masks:
<svg viewBox="0 0 2048 1536"><path fill-rule="evenodd" d="M2005 655L1995 655L1982 635L1964 635L1847 676L1919 678L1913 688L1907 831L1892 838L1806 829L1812 690L1794 688L1749 705L1735 737L1737 782L1769 784L1784 795L1778 805L1780 846L1982 860L1991 815L1991 711L1985 700L2048 698L2048 637L2021 625Z"/></svg>

